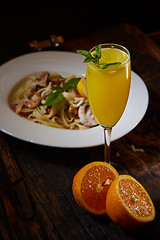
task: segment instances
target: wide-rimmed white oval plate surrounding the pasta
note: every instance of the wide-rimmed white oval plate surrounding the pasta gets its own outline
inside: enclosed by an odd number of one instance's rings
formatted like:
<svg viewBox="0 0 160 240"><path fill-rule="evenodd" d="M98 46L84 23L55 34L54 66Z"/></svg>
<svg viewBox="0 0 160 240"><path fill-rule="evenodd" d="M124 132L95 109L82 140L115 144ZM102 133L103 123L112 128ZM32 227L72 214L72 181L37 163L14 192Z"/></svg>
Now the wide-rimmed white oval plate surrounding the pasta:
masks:
<svg viewBox="0 0 160 240"><path fill-rule="evenodd" d="M17 57L0 67L0 129L19 139L54 147L91 147L104 142L103 129L63 130L33 123L19 117L8 105L13 86L25 76L58 72L63 76L85 75L83 57L70 52L38 52ZM143 118L148 106L148 91L143 80L132 71L131 90L123 116L113 128L112 141L130 132Z"/></svg>

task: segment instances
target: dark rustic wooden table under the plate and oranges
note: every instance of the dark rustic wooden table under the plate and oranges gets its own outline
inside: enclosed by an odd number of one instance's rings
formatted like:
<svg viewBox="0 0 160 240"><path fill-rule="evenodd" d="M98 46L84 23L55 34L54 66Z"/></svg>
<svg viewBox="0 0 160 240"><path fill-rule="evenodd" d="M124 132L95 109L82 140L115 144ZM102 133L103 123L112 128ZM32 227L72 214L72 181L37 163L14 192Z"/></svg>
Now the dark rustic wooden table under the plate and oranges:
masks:
<svg viewBox="0 0 160 240"><path fill-rule="evenodd" d="M126 46L132 69L148 87L144 118L130 133L112 142L111 154L147 189L155 204L155 220L126 231L106 215L93 216L77 206L71 189L73 177L85 164L103 159L103 146L46 147L0 132L0 239L159 239L160 49L138 28L123 24L65 42L61 50L89 50L102 42ZM144 152L134 152L131 145Z"/></svg>

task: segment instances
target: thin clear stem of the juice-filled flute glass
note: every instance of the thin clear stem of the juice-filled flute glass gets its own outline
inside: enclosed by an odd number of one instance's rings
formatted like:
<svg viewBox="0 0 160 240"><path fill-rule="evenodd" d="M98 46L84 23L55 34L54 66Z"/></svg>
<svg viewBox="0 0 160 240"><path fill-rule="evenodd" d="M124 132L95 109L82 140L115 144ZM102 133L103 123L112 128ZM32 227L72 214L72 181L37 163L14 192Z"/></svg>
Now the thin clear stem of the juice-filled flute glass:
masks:
<svg viewBox="0 0 160 240"><path fill-rule="evenodd" d="M104 161L111 164L110 161L110 144L111 144L112 127L104 127Z"/></svg>

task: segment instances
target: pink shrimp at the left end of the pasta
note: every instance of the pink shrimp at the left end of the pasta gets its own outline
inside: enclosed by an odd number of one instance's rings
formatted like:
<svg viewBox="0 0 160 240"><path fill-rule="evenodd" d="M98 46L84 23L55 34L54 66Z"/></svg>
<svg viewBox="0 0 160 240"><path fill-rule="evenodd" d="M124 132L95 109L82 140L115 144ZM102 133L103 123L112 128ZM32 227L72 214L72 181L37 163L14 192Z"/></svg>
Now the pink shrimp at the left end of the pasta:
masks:
<svg viewBox="0 0 160 240"><path fill-rule="evenodd" d="M23 104L28 108L36 108L41 102L41 97L37 96L37 94L25 94L23 98Z"/></svg>

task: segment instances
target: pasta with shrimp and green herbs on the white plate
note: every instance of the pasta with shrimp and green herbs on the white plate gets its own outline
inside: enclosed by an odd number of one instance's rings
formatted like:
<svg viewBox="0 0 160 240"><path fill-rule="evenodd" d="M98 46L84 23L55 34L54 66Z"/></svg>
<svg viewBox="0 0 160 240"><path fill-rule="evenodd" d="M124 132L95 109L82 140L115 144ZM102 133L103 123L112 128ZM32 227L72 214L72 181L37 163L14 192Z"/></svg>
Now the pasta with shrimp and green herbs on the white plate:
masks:
<svg viewBox="0 0 160 240"><path fill-rule="evenodd" d="M97 125L87 97L77 90L74 75L64 78L58 73L35 73L11 92L9 104L19 116L35 123L63 129L88 129Z"/></svg>

